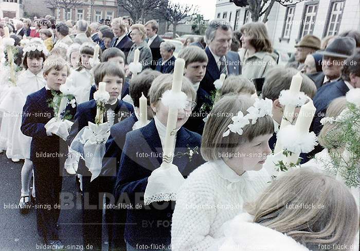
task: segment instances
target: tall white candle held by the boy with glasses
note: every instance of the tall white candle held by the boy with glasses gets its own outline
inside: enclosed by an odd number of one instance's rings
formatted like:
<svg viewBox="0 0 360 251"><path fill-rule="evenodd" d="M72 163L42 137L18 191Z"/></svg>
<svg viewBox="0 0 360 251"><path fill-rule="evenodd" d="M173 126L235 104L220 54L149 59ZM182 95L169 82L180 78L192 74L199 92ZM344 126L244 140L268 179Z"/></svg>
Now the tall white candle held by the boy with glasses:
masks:
<svg viewBox="0 0 360 251"><path fill-rule="evenodd" d="M172 80L171 91L174 94L180 94L183 85L185 61L183 59L176 59ZM166 137L164 143L164 157L163 162L171 164L174 155L175 136L176 136L176 122L177 122L178 109L169 107L168 121L166 124Z"/></svg>

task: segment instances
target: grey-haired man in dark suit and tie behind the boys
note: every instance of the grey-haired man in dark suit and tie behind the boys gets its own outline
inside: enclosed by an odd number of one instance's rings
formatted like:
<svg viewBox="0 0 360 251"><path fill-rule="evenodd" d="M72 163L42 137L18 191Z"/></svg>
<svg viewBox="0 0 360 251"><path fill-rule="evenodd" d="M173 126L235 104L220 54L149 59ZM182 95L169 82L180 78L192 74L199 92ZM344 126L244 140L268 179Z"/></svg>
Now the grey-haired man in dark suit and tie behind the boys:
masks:
<svg viewBox="0 0 360 251"><path fill-rule="evenodd" d="M230 50L232 28L225 20L212 20L205 31L207 47L205 52L209 62L204 79L200 82L206 92L215 90L214 81L220 78L221 73L226 75L241 74L239 54Z"/></svg>

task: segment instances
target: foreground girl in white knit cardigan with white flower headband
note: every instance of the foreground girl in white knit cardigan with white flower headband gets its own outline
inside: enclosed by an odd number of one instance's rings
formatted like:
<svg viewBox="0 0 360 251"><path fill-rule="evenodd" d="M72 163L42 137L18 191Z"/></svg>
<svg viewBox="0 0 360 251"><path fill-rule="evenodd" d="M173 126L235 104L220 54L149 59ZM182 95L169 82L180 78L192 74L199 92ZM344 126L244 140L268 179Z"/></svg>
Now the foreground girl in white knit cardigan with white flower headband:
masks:
<svg viewBox="0 0 360 251"><path fill-rule="evenodd" d="M271 153L271 109L271 101L254 104L245 95L225 95L215 103L201 144L208 162L190 173L177 194L173 251L208 250L222 236L220 227L242 213L243 204L259 196L271 180L262 169Z"/></svg>

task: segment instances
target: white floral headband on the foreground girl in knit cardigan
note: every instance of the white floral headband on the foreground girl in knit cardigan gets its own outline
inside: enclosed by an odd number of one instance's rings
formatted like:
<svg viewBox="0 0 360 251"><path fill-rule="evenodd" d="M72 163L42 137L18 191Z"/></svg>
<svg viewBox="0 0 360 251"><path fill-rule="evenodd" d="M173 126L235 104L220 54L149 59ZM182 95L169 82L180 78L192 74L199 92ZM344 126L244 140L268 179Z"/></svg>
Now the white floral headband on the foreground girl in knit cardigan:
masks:
<svg viewBox="0 0 360 251"><path fill-rule="evenodd" d="M232 117L231 120L233 121L232 124L228 125L229 128L227 131L223 133L223 137L226 137L231 132L238 133L239 135L243 134L243 128L250 124L255 124L258 121L258 118L264 117L265 115L272 116L273 110L273 102L269 99L256 99L256 102L253 106L247 108L247 114L244 114L239 111L236 116Z"/></svg>

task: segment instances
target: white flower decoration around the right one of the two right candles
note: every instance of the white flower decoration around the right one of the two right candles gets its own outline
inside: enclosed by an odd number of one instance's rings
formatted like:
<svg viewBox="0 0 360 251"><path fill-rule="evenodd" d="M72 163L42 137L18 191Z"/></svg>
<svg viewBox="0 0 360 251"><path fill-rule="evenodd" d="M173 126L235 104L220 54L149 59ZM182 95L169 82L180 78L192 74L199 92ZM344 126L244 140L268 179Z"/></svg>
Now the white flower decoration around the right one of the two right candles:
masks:
<svg viewBox="0 0 360 251"><path fill-rule="evenodd" d="M277 140L280 141L284 150L294 153L308 153L317 146L317 137L315 133L299 133L294 125L287 125L277 134Z"/></svg>

